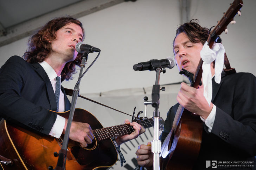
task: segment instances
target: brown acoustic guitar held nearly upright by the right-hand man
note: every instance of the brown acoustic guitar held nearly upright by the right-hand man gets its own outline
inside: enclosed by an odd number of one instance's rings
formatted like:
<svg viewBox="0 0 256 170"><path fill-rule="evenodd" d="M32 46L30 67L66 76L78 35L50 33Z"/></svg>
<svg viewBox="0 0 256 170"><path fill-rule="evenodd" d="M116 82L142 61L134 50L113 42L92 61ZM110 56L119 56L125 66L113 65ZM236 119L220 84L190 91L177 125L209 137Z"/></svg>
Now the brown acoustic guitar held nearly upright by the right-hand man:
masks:
<svg viewBox="0 0 256 170"><path fill-rule="evenodd" d="M224 13L222 19L218 21L217 26L211 30L207 39L210 48L213 43L218 42L219 35L226 29L228 24L233 20L234 16L243 6L242 0L233 1L228 11ZM226 70L230 73L235 72L234 68L230 68L229 63L226 62L225 55L224 64ZM200 60L197 71L194 75L187 73L186 70L181 72L190 77L191 86L198 88L202 77L202 64ZM228 69L228 70L227 70ZM162 144L160 154L160 169L161 170L191 170L193 163L196 161L202 139L203 124L200 117L196 114L186 110L181 105L179 106L172 124L172 129L165 138Z"/></svg>

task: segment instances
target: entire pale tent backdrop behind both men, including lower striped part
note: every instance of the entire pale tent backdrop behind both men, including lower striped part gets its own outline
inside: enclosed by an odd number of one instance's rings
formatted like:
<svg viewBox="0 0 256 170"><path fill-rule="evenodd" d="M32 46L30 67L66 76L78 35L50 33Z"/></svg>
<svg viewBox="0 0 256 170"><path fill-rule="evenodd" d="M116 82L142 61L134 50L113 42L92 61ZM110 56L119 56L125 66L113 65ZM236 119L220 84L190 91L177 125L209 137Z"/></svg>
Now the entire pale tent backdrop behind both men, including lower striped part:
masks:
<svg viewBox="0 0 256 170"><path fill-rule="evenodd" d="M256 40L256 1L243 0L242 16L235 17L237 23L228 26L229 33L222 34L223 45L229 57L231 67L237 72L250 72L256 75L254 45ZM210 28L217 24L223 12L229 8L232 0L191 0L190 19L196 18L202 26ZM155 72L135 72L133 65L150 59L164 59L172 56L172 42L177 25L181 24L179 0L137 0L103 9L101 11L78 18L82 21L86 33L85 43L101 49L101 55L80 85L80 94L96 101L108 104L126 113L144 110L143 87L151 100L151 87L155 83ZM63 14L65 15L65 14ZM55 18L56 16L52 16ZM27 38L0 47L0 66L12 55L22 56L27 49ZM96 53L89 54L88 64L94 60ZM87 65L88 66L88 65ZM78 70L79 71L79 70ZM63 82L66 88L73 89L77 81ZM183 81L177 67L161 74L160 84ZM175 96L179 85L166 86L160 94L160 115L166 117L170 106L176 103ZM100 97L100 93L102 96ZM97 106L79 99L77 107L94 114L104 127L122 124L127 115L122 115L102 106ZM150 108L150 106L148 107ZM152 110L148 114L152 113ZM153 132L153 129L150 129ZM141 135L138 143L146 143L151 139L149 132ZM127 159L126 169L134 168L131 161L135 157L130 142L122 145ZM130 147L130 149L128 149ZM120 164L114 166L120 169Z"/></svg>

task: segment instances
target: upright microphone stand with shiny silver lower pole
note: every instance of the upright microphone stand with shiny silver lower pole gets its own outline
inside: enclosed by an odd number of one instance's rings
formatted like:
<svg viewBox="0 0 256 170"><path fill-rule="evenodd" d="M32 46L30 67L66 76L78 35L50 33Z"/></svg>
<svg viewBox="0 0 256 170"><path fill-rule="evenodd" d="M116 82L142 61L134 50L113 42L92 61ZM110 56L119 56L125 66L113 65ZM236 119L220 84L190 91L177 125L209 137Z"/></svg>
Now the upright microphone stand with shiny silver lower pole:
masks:
<svg viewBox="0 0 256 170"><path fill-rule="evenodd" d="M156 80L155 84L153 85L152 88L152 107L155 108L154 110L154 140L152 141L152 153L154 154L154 159L153 159L153 169L154 170L160 170L160 153L161 153L161 141L159 140L159 118L160 118L160 113L159 113L159 98L160 98L160 73L163 72L165 73L165 69L161 69L160 67L156 68ZM164 90L162 88L161 90Z"/></svg>

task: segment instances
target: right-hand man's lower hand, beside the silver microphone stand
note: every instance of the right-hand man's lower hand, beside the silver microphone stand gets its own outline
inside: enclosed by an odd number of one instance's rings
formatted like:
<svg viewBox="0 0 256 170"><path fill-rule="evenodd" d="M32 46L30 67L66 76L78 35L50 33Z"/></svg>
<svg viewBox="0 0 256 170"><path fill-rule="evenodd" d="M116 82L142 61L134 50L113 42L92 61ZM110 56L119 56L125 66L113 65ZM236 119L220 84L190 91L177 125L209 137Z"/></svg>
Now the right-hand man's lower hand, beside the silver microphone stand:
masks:
<svg viewBox="0 0 256 170"><path fill-rule="evenodd" d="M135 152L137 155L138 165L147 168L148 170L153 169L153 154L151 152L151 142L147 145L140 145L138 150Z"/></svg>

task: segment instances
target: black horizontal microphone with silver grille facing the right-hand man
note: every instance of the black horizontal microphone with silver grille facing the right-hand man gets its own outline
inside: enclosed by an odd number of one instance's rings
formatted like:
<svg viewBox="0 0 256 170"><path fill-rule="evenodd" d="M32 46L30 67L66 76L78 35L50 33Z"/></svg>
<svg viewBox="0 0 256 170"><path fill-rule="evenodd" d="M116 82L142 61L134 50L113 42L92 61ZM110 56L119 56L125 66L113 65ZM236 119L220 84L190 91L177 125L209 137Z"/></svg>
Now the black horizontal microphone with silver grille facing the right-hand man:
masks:
<svg viewBox="0 0 256 170"><path fill-rule="evenodd" d="M158 67L161 68L173 68L175 66L175 60L172 57L162 60L149 60L147 62L140 62L133 65L135 71L144 71L144 70L155 70Z"/></svg>

